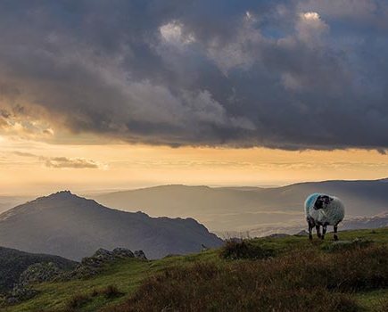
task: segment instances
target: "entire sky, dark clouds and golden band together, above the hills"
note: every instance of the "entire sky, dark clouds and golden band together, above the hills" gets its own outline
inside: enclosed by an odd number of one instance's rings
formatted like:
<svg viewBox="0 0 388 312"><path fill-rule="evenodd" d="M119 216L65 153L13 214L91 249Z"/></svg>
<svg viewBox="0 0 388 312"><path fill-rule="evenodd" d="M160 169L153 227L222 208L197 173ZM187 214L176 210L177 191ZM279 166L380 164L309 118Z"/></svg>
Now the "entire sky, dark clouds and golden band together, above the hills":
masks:
<svg viewBox="0 0 388 312"><path fill-rule="evenodd" d="M0 2L0 194L388 177L385 0Z"/></svg>

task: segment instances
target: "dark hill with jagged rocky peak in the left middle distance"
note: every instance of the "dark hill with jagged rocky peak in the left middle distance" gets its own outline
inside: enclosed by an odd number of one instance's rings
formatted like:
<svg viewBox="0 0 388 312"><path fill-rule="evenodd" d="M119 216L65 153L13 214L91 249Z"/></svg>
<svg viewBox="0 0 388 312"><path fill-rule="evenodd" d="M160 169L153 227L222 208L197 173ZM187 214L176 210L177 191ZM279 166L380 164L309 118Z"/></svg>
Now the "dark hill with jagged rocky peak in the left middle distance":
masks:
<svg viewBox="0 0 388 312"><path fill-rule="evenodd" d="M222 241L193 218L150 218L109 209L68 191L0 215L0 246L79 260L95 250L125 247L148 258L185 254Z"/></svg>

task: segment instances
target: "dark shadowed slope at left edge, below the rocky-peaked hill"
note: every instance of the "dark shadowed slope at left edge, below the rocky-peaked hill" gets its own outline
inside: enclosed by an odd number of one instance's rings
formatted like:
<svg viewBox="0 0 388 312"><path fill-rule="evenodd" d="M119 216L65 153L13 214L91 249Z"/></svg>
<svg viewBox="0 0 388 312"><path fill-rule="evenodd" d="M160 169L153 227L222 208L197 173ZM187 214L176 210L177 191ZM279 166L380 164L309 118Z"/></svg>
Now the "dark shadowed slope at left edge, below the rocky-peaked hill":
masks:
<svg viewBox="0 0 388 312"><path fill-rule="evenodd" d="M34 254L0 247L0 294L11 291L19 277L29 266L37 263L54 263L59 269L71 269L77 262L62 257Z"/></svg>

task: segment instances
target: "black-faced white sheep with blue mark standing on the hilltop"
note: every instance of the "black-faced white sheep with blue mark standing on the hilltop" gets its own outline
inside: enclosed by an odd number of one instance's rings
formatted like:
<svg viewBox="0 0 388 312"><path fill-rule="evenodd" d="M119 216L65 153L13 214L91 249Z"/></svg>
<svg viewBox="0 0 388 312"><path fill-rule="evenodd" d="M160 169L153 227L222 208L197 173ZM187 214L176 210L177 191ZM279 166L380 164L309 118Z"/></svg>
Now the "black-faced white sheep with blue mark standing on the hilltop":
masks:
<svg viewBox="0 0 388 312"><path fill-rule="evenodd" d="M312 229L315 226L318 238L325 238L327 226L334 226L334 241L338 241L338 224L343 221L345 208L343 202L335 196L325 193L313 193L304 202L306 220L309 224L309 239L312 240ZM322 226L322 234L320 234Z"/></svg>

